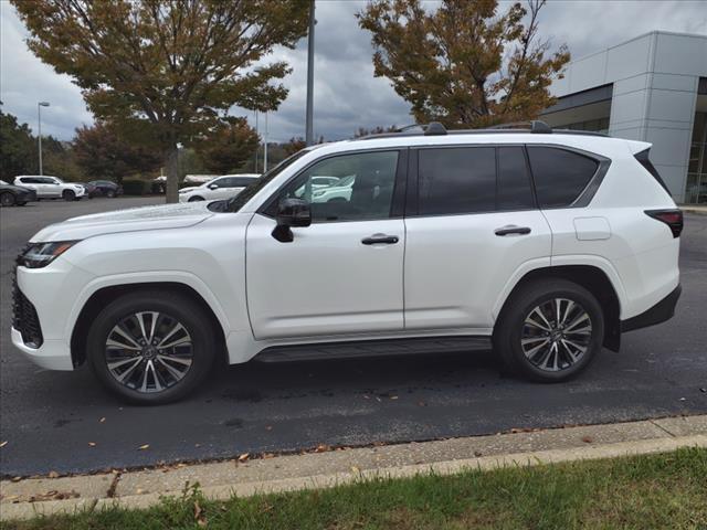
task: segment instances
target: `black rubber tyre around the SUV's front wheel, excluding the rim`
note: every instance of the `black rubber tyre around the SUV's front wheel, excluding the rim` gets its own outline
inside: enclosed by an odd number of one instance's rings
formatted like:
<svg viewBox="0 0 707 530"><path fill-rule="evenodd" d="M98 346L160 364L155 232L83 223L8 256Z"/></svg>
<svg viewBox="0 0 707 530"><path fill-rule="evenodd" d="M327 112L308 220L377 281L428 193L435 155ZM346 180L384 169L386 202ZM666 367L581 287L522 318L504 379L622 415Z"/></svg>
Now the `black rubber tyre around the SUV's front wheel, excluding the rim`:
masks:
<svg viewBox="0 0 707 530"><path fill-rule="evenodd" d="M177 380L171 385L167 384L171 374L166 369L165 362L159 361L160 364L158 364L158 359L155 357L158 354L158 351L165 352L165 350L157 350L158 346L151 348L152 357L146 357L150 354L149 351L146 351L146 347L143 347L140 352L129 352L123 349L109 348L106 344L109 338L113 338L113 340L117 338L114 333L114 327L118 325L118 322L123 322L123 329L129 331L125 322L128 322L130 318L135 318L134 316L138 312L144 311L157 311L162 316L160 317L162 318L162 324L159 324L160 320L156 319L158 325L156 326L155 332L150 333L155 339L152 344L156 341L160 341L160 335L158 333L163 332L165 335L165 337L161 337L161 341L167 340L169 337L177 336L172 336L169 332L172 321L183 326L186 330L184 333L188 333L188 338L190 339L190 357L182 359L189 359L191 364L187 369L186 374L182 375L182 379ZM151 320L148 321L147 319L154 317L143 318L146 319L144 322L145 327L151 328ZM137 322L137 320L135 321ZM181 333L181 331L179 331L179 333ZM165 290L131 293L115 299L98 314L88 331L86 356L93 372L103 385L124 401L140 405L162 404L184 398L194 391L207 378L215 358L214 335L211 320L190 298L178 293ZM124 339L120 340L127 343ZM149 348L149 346L147 346L147 348ZM108 353L109 350L112 350L113 353ZM117 377L108 369L107 357L115 354L116 351L123 356L123 359L128 359L130 356L134 356L136 361L138 359L140 360L135 369L135 374L126 377L125 382L118 381ZM172 358L179 357L179 354L176 354L175 348L172 348L171 353L163 353L161 359L165 359L165 356L171 356ZM113 357L113 359L114 362L116 359L118 361L120 360L120 358L115 357ZM146 368L148 359L152 359L152 367L155 368L152 368L150 375L145 375L145 381L149 382L151 378L152 389L144 392L141 389L137 389L137 385L143 381L140 374L149 371ZM181 363L170 362L169 364L180 370L182 368ZM128 369L130 367L131 364L128 361ZM125 371L128 371L128 369ZM120 370L123 369L120 368ZM157 375L158 371L162 375L160 381L165 385L162 390L158 389L157 381L160 379ZM118 375L123 374L120 373ZM137 380L133 382L136 378Z"/></svg>

